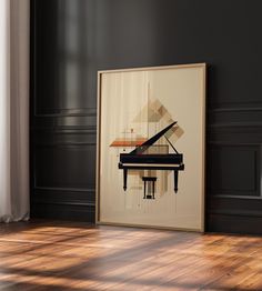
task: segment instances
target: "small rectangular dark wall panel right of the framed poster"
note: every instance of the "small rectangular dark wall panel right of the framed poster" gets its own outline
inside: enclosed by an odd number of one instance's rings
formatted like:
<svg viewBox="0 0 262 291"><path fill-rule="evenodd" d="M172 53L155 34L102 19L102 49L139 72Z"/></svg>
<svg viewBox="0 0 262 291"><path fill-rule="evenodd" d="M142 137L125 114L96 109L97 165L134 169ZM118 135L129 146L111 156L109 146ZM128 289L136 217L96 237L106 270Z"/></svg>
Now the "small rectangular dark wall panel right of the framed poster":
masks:
<svg viewBox="0 0 262 291"><path fill-rule="evenodd" d="M259 146L210 146L208 189L211 195L261 197ZM241 179L240 179L241 177Z"/></svg>

